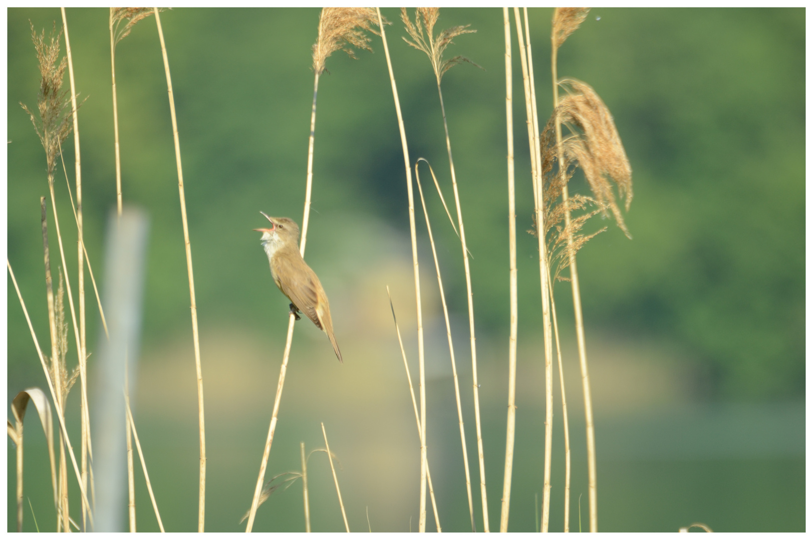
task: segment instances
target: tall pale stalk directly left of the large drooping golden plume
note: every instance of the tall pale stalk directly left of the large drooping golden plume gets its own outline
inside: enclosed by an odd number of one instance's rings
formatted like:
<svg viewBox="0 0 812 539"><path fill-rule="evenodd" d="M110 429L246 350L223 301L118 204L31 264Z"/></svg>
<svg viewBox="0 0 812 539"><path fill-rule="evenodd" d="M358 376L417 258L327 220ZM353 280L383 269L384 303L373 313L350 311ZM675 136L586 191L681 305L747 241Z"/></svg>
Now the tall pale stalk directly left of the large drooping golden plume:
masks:
<svg viewBox="0 0 812 539"><path fill-rule="evenodd" d="M521 17L518 8L514 8L516 16L516 33L519 37L522 75L525 80L525 106L528 116L528 136L530 140L530 153L533 156L533 200L535 203L536 227L538 231L544 230L543 222L543 190L542 190L542 158L538 136L538 111L536 108L535 82L533 80L533 56L530 47L529 24L527 9L525 8L525 32L521 29ZM526 34L526 36L525 36ZM552 461L552 327L550 319L550 298L546 267L546 245L544 235L538 234L538 267L542 289L542 319L544 327L544 390L545 390L545 420L544 420L544 490L542 494L542 532L546 532L550 524L550 476Z"/></svg>

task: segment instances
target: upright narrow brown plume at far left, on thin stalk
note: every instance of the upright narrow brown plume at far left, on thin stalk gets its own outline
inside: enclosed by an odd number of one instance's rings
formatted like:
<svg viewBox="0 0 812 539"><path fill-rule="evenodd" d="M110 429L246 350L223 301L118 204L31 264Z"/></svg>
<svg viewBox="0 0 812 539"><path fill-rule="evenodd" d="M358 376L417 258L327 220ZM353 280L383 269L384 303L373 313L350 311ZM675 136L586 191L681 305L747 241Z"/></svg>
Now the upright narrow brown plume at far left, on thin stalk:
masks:
<svg viewBox="0 0 812 539"><path fill-rule="evenodd" d="M45 149L49 181L53 181L54 178L56 158L60 153L59 148L73 128L71 98L67 89L62 88L67 57L63 57L57 63L61 38L62 30L60 29L59 33L56 33L56 23L54 23L54 29L47 41L45 40L45 30L37 35L34 25L31 24L31 39L34 42L34 50L37 51L37 62L41 74L40 92L37 95L39 122L34 118L31 110L28 110L28 106L25 106L24 103L19 104L31 118L34 131L37 132L42 147Z"/></svg>

